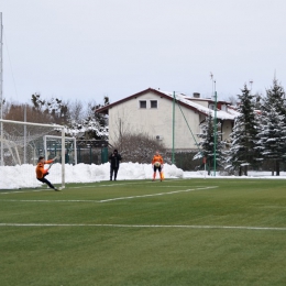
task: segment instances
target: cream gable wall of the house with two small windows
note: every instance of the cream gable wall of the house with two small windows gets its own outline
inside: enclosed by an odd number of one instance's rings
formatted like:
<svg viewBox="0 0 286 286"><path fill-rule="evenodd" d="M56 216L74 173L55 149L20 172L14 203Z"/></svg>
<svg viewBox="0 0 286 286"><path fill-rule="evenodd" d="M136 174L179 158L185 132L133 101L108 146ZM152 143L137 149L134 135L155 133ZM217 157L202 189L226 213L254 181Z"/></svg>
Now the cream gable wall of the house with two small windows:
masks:
<svg viewBox="0 0 286 286"><path fill-rule="evenodd" d="M146 100L147 108L141 109L139 101ZM157 109L150 108L150 100L157 100ZM182 111L186 118L182 113ZM175 106L175 148L197 148L199 114L185 107ZM191 135L191 132L194 136ZM173 102L153 92L147 92L109 109L109 142L113 145L121 134L145 133L154 139L158 135L167 148L173 148Z"/></svg>

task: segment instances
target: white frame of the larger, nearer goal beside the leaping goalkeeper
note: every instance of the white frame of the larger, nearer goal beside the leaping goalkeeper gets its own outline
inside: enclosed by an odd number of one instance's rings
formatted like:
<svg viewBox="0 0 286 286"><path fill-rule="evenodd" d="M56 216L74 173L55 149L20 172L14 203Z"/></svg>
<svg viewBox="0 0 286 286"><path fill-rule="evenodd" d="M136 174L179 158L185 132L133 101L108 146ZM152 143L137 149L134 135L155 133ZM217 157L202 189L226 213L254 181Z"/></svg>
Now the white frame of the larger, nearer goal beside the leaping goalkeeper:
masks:
<svg viewBox="0 0 286 286"><path fill-rule="evenodd" d="M1 144L1 160L0 160L0 166L3 166L3 123L12 123L12 124L20 124L20 125L34 125L34 127L44 127L44 128L53 128L53 129L61 129L62 130L62 188L65 188L65 127L58 125L58 124L44 124L44 123L33 123L33 122L25 122L25 121L13 121L13 120L6 120L0 119L0 144ZM24 144L26 143L26 140L24 139Z"/></svg>

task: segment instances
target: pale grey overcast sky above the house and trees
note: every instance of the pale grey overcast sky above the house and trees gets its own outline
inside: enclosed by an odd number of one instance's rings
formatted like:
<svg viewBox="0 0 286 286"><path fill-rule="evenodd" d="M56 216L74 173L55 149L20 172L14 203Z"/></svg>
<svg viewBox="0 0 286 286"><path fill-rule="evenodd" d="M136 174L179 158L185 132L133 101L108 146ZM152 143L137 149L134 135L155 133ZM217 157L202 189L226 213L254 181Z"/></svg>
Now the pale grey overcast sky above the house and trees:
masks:
<svg viewBox="0 0 286 286"><path fill-rule="evenodd" d="M2 0L3 98L286 88L285 0Z"/></svg>

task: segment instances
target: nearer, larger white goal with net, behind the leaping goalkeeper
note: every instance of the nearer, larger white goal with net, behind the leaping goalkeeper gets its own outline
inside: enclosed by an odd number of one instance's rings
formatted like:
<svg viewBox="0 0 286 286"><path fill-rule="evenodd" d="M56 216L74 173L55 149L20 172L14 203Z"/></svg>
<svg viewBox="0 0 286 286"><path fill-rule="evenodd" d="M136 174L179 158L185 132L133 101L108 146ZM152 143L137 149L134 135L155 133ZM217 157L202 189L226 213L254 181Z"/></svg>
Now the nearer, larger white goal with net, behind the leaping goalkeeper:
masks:
<svg viewBox="0 0 286 286"><path fill-rule="evenodd" d="M56 154L45 147L46 135L57 136ZM47 179L64 188L65 153L64 127L0 119L0 189L46 188L35 176L40 156L45 160L59 157Z"/></svg>

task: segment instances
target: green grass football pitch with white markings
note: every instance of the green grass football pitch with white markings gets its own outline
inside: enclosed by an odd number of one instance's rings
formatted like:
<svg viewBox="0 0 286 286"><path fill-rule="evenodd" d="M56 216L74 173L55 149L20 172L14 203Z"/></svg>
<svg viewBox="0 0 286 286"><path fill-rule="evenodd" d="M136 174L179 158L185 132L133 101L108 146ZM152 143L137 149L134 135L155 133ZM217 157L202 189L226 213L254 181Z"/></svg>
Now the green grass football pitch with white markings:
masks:
<svg viewBox="0 0 286 286"><path fill-rule="evenodd" d="M286 180L0 190L0 285L286 285Z"/></svg>

